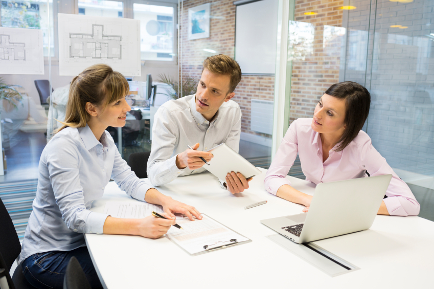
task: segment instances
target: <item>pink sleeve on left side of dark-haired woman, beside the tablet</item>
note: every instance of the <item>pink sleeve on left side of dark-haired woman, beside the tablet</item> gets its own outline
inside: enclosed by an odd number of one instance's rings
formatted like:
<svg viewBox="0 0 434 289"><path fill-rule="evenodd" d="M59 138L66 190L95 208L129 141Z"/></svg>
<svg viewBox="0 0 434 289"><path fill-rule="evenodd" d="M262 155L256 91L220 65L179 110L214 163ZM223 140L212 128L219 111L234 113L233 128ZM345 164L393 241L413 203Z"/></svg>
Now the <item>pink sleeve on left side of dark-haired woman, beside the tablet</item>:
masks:
<svg viewBox="0 0 434 289"><path fill-rule="evenodd" d="M286 175L294 164L297 152L296 121L294 121L286 131L275 158L265 175L264 187L269 193L276 195L281 186L291 185L291 182L286 179Z"/></svg>

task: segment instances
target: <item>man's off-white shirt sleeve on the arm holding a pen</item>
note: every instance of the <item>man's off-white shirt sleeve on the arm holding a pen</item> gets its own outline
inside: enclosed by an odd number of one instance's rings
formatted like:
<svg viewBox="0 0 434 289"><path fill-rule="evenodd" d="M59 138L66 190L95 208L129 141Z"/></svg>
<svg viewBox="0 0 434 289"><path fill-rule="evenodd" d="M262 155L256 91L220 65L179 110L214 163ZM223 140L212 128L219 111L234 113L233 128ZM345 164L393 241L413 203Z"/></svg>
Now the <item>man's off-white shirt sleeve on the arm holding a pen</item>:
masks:
<svg viewBox="0 0 434 289"><path fill-rule="evenodd" d="M161 186L172 182L183 172L176 166L176 155L172 156L176 144L176 133L170 113L160 107L155 113L152 128L152 148L147 164L148 178L152 185Z"/></svg>

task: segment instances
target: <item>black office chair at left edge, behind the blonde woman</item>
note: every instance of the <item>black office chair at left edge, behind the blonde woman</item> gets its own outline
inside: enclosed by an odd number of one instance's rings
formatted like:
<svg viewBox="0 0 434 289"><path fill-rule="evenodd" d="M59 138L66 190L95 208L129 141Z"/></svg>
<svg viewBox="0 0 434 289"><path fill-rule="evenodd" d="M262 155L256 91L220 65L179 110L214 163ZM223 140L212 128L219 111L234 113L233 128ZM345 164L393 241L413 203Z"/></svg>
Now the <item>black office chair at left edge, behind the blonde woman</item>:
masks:
<svg viewBox="0 0 434 289"><path fill-rule="evenodd" d="M6 279L8 280L9 288L16 289L34 289L22 274L21 266L18 265L11 278L9 271L12 264L21 252L21 245L19 243L18 235L16 234L14 224L6 210L5 204L0 199L0 271L5 269ZM2 289L6 289L3 288Z"/></svg>

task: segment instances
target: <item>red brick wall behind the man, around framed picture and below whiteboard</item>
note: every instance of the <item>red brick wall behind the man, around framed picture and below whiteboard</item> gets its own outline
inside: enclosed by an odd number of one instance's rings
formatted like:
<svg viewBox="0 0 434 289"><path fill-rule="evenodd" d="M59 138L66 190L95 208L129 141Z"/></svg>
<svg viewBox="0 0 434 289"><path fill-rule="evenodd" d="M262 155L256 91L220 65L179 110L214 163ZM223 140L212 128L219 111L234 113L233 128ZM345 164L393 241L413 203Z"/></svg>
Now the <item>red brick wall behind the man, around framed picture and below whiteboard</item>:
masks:
<svg viewBox="0 0 434 289"><path fill-rule="evenodd" d="M188 9L205 3L210 3L210 1L186 0L182 13L182 43L180 43L182 64L180 70L183 74L189 74L196 79L200 79L202 62L208 56L219 53L231 57L235 56L236 7L233 5L233 0L212 1L210 37L188 40ZM206 52L203 49L211 49L216 53ZM242 76L233 98L241 107L242 132L271 138L270 135L259 134L250 130L250 99L273 100L274 79L274 76Z"/></svg>

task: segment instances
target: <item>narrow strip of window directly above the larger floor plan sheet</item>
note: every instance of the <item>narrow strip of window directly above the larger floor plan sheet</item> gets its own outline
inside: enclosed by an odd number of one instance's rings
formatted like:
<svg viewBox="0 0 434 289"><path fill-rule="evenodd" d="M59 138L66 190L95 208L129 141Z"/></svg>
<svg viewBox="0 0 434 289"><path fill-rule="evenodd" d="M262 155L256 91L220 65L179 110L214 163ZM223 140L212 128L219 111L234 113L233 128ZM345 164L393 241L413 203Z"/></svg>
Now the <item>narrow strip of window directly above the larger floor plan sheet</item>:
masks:
<svg viewBox="0 0 434 289"><path fill-rule="evenodd" d="M102 17L123 17L124 4L120 1L79 0L78 14Z"/></svg>

